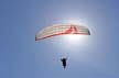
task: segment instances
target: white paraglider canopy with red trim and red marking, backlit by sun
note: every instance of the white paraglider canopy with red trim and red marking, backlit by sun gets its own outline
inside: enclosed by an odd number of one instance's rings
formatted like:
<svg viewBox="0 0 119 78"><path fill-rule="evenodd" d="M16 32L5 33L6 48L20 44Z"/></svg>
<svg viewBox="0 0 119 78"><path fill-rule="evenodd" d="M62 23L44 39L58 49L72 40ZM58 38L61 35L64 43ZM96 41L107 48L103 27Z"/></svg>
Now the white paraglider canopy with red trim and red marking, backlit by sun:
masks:
<svg viewBox="0 0 119 78"><path fill-rule="evenodd" d="M86 26L78 24L55 24L37 32L35 41L66 34L90 35L90 32Z"/></svg>

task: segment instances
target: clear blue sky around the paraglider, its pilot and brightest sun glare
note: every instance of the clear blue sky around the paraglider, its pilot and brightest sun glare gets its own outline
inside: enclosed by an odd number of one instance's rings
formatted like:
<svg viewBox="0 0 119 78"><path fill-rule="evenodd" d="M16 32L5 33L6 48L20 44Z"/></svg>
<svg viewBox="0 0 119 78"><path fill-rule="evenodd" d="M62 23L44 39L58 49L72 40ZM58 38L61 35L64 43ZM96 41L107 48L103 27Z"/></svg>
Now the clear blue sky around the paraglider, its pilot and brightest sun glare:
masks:
<svg viewBox="0 0 119 78"><path fill-rule="evenodd" d="M73 20L90 30L85 43L35 42L43 27ZM119 0L0 0L0 78L119 78L118 31Z"/></svg>

